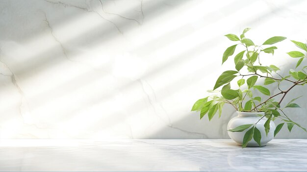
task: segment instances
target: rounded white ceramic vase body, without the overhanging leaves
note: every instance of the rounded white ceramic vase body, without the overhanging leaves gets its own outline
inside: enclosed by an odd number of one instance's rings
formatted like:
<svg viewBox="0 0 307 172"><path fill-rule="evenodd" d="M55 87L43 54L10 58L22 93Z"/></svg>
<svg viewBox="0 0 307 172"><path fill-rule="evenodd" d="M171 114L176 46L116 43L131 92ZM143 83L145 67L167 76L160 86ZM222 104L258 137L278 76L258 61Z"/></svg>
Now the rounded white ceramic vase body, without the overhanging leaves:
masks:
<svg viewBox="0 0 307 172"><path fill-rule="evenodd" d="M227 130L233 129L240 125L245 124L254 124L256 123L261 117L258 115L264 115L264 112L237 112L238 115L234 118L232 118L228 125ZM261 133L261 146L266 146L266 144L271 141L274 138L274 131L275 131L275 123L273 121L270 122L270 131L268 135L266 136L265 130L264 130L264 123L266 122L267 118L262 118L257 124L256 127L259 129ZM251 126L252 127L252 126ZM250 128L251 128L250 127ZM228 131L229 137L235 141L238 145L242 146L243 144L243 137L244 134L250 129L246 129L242 132L230 132ZM247 144L248 147L258 147L259 145L256 143L254 138Z"/></svg>

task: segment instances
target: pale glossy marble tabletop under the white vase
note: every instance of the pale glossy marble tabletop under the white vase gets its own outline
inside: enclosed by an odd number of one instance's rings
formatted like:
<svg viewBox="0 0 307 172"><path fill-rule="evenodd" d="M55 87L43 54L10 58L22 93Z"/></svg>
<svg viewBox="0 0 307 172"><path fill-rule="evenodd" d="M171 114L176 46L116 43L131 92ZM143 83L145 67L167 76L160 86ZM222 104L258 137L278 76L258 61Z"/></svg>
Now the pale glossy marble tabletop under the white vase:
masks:
<svg viewBox="0 0 307 172"><path fill-rule="evenodd" d="M306 172L307 139L0 140L0 171Z"/></svg>

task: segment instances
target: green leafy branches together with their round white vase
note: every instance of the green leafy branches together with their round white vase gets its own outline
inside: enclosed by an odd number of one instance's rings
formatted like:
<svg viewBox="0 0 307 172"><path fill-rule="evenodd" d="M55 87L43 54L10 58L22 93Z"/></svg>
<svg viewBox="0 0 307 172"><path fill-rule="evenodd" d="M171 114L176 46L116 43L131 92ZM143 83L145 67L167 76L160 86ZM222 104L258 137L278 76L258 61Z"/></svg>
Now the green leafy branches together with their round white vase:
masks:
<svg viewBox="0 0 307 172"><path fill-rule="evenodd" d="M245 28L240 38L234 34L225 35L236 44L225 50L222 64L234 54L237 47L241 46L243 48L242 51L234 56L235 70L223 72L217 78L213 90L209 91L216 94L197 100L191 111L200 111L201 119L205 114L208 114L210 121L217 113L219 117L221 116L225 103L233 106L237 110L238 116L228 123L228 134L232 140L242 145L242 147L265 146L284 125L287 125L289 131L296 125L307 132L306 128L292 121L284 113L284 108L299 108L300 106L294 101L300 97L292 99L284 107L281 107L281 102L290 90L307 83L307 66L301 67L302 61L307 57L307 45L292 41L304 51L288 52L290 57L298 58L298 62L295 70L291 69L289 71L289 75L281 76L279 74L280 69L277 66L265 66L260 63L259 55L260 53L274 55L274 50L277 47L272 45L286 38L275 36L257 46L251 39L245 37L245 33L249 30L250 28ZM238 78L234 85L236 89L230 86L230 82L234 78ZM256 82L260 80L259 78L264 78L262 84ZM281 89L281 85L286 85L286 82L289 82L291 86ZM279 89L277 94L271 94L268 88L270 84L277 85ZM217 91L220 87L222 89ZM265 98L254 96L255 92L263 94ZM275 126L273 121L277 118L281 119L281 123Z"/></svg>

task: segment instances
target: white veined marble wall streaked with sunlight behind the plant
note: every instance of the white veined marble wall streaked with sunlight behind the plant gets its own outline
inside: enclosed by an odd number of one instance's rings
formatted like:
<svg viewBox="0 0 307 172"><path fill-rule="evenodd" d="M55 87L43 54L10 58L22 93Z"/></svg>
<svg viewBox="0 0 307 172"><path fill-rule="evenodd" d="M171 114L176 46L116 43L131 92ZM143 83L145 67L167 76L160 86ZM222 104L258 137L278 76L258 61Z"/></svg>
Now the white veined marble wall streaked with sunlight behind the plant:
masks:
<svg viewBox="0 0 307 172"><path fill-rule="evenodd" d="M223 35L272 36L274 57L306 42L306 0L0 0L0 138L229 138L235 110L190 112L221 72ZM306 60L303 61L306 65ZM286 74L286 72L284 73ZM285 85L286 88L289 85ZM276 86L272 92L277 92ZM307 127L306 87L285 110ZM294 127L279 138L307 138Z"/></svg>

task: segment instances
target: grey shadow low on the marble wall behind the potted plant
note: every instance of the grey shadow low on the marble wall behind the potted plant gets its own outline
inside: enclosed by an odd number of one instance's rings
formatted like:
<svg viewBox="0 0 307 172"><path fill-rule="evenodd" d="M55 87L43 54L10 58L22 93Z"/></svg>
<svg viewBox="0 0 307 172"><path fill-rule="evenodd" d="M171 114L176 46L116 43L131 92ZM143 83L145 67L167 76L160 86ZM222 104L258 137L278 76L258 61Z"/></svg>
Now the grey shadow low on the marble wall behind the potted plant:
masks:
<svg viewBox="0 0 307 172"><path fill-rule="evenodd" d="M291 57L289 57L291 58ZM282 76L288 75L289 69L294 69L297 61L293 61L291 63L285 64L283 66L280 66L281 71L279 74ZM303 66L307 65L307 60L305 59L304 62L300 65L302 68ZM298 69L300 69L300 67ZM218 77L218 76L217 76ZM216 77L216 78L217 78ZM258 78L257 82L263 83L263 78L260 81L260 78ZM291 82L283 81L283 86L281 87L282 90L286 90L291 86ZM292 119L293 121L300 123L303 127L307 127L307 93L306 93L306 86L297 86L294 89L292 89L285 97L285 99L281 103L281 107L285 106L288 101L290 101L293 98L297 98L301 95L303 95L302 98L297 99L296 103L298 103L301 108L286 108L284 109L284 112L287 114L287 116ZM272 94L279 93L277 84L271 84L267 85L269 90ZM208 94L209 95L209 94ZM267 97L264 97L260 93L254 93L254 96L260 96L262 99L265 99ZM280 99L281 96L277 97L277 99ZM196 100L195 100L196 101ZM194 102L191 102L191 107ZM187 109L187 111L190 109ZM215 117L211 120L211 122L208 121L207 114L203 117L202 120L199 119L200 115L199 112L187 112L185 117L182 118L179 121L176 121L174 123L171 123L168 126L165 126L164 128L158 130L154 134L146 137L147 139L225 139L229 138L227 134L227 124L231 118L236 116L236 110L229 104L225 104L221 118L218 119L218 113L215 115ZM299 115L298 115L299 114ZM281 123L281 120L277 119L275 120L275 123ZM302 137L303 136L303 137ZM291 133L286 128L286 125L281 129L279 132L279 135L277 135L276 138L307 138L307 133L303 131L301 128L295 126L293 127Z"/></svg>

